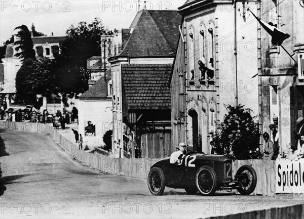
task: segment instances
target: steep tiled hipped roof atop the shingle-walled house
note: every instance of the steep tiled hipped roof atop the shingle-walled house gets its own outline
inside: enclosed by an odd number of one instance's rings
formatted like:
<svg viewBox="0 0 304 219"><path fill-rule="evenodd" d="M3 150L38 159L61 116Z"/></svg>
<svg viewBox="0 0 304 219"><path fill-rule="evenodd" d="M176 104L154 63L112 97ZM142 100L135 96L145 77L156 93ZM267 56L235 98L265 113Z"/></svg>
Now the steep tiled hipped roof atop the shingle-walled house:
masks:
<svg viewBox="0 0 304 219"><path fill-rule="evenodd" d="M174 57L180 22L177 11L138 12L130 26L132 34L119 56Z"/></svg>

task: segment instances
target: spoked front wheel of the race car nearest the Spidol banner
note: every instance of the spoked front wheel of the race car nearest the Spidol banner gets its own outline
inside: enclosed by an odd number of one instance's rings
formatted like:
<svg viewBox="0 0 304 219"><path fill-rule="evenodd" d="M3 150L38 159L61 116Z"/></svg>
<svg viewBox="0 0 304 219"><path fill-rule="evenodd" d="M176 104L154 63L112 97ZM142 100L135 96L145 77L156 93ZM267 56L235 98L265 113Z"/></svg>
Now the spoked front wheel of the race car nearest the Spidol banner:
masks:
<svg viewBox="0 0 304 219"><path fill-rule="evenodd" d="M242 195L250 195L256 187L255 170L249 165L243 165L238 169L237 177L241 185L237 188L238 192Z"/></svg>

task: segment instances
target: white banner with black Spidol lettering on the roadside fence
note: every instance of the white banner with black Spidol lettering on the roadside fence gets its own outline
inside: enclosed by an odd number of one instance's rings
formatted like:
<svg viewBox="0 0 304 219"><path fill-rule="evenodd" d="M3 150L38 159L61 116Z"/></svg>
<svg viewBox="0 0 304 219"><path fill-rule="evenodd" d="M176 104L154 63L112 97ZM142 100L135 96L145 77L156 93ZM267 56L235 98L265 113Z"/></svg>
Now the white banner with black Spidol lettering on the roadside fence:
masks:
<svg viewBox="0 0 304 219"><path fill-rule="evenodd" d="M304 192L304 159L276 160L276 193Z"/></svg>

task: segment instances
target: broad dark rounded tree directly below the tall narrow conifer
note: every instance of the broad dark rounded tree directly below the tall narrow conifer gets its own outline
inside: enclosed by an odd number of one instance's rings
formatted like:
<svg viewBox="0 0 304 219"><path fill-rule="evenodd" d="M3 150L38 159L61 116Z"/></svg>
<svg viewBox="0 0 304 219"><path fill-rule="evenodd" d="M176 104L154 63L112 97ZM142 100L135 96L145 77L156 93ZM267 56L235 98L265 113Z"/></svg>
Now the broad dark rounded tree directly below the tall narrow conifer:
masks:
<svg viewBox="0 0 304 219"><path fill-rule="evenodd" d="M36 95L57 93L54 61L48 58L25 59L16 75L16 101L36 105Z"/></svg>

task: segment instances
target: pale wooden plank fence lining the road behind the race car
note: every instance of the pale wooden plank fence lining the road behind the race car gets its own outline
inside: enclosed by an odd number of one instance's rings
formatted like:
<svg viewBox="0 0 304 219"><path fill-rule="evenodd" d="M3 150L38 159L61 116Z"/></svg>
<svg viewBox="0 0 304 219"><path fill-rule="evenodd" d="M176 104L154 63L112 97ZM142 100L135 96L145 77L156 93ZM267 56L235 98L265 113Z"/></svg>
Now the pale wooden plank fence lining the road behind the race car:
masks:
<svg viewBox="0 0 304 219"><path fill-rule="evenodd" d="M0 122L0 128L12 132L50 134L61 147L85 165L91 166L105 173L137 179L147 179L150 166L160 159L127 159L111 158L99 153L88 153L79 150L78 146L64 138L61 129L54 129L51 124ZM254 195L275 195L276 173L275 161L273 160L236 160L233 162L233 176L242 165L251 165L257 174L257 185Z"/></svg>

